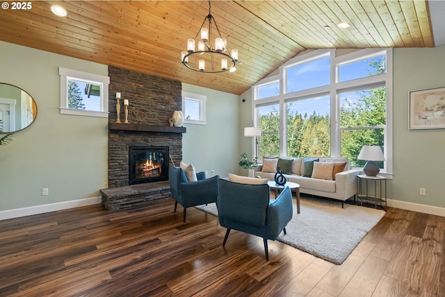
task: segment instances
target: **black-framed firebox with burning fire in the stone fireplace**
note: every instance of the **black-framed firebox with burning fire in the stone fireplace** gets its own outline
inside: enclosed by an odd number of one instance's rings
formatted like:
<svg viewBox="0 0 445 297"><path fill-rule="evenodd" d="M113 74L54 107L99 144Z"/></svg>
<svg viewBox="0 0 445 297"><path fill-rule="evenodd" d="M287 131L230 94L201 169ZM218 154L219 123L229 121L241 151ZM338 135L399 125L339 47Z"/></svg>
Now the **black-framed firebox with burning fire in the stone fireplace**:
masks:
<svg viewBox="0 0 445 297"><path fill-rule="evenodd" d="M168 146L129 148L129 185L168 180Z"/></svg>

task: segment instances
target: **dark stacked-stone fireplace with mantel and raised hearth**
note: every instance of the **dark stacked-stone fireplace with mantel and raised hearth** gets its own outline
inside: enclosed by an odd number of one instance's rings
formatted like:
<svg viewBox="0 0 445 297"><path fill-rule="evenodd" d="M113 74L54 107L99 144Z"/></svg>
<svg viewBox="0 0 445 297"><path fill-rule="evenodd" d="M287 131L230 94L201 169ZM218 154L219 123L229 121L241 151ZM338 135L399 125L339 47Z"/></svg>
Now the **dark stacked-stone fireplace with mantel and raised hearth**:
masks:
<svg viewBox="0 0 445 297"><path fill-rule="evenodd" d="M186 133L186 128L169 123L173 112L182 109L181 82L114 66L108 67L108 75L108 189L101 189L102 203L118 210L170 198L168 165L182 160ZM116 123L116 92L122 96L120 119L122 102L129 100L129 124ZM141 153L140 148L151 148L152 153ZM136 161L130 161L133 153ZM155 161L161 163L159 169L150 164Z"/></svg>

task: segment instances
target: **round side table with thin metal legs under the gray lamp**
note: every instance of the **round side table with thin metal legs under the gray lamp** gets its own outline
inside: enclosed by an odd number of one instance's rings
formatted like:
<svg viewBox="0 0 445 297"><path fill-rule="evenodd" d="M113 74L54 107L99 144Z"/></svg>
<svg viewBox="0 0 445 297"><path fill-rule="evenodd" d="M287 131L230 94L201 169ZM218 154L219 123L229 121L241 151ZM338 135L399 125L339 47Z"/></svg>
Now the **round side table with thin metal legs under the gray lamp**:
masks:
<svg viewBox="0 0 445 297"><path fill-rule="evenodd" d="M371 183L371 189L369 183ZM372 189L372 183L374 184L374 189ZM385 196L383 196L384 193ZM360 199L360 205L363 205L363 201L373 201L375 208L377 208L378 203L380 203L379 206L382 207L383 210L386 210L387 178L385 178L385 176L366 176L359 174L357 176L357 198ZM385 203L385 207L383 203Z"/></svg>

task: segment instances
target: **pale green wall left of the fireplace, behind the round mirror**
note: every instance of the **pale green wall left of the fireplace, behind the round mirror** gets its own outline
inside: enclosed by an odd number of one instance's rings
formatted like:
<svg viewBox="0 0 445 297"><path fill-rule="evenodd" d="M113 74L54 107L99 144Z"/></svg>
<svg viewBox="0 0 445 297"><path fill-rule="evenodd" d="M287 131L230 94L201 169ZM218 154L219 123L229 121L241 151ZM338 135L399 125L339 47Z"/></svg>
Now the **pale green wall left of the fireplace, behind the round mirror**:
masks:
<svg viewBox="0 0 445 297"><path fill-rule="evenodd" d="M99 196L108 183L108 120L60 114L58 67L108 75L108 66L6 42L0 53L0 82L21 87L38 108L34 123L0 146L0 210Z"/></svg>

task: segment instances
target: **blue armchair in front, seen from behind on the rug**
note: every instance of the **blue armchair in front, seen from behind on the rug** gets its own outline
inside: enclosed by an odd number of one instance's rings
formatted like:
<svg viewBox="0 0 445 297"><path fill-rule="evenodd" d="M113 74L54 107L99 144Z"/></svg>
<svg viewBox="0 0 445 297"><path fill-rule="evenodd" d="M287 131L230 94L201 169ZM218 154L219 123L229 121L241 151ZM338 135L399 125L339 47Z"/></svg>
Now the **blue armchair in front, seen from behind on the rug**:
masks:
<svg viewBox="0 0 445 297"><path fill-rule="evenodd" d="M263 237L266 260L269 260L267 240L275 240L292 219L292 193L286 187L270 201L267 184L248 185L229 180L218 180L218 219L227 228L223 246L230 230L238 230Z"/></svg>

